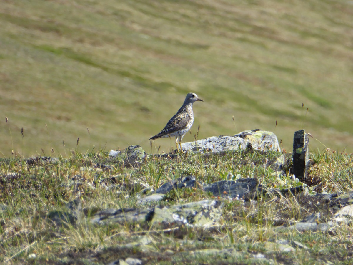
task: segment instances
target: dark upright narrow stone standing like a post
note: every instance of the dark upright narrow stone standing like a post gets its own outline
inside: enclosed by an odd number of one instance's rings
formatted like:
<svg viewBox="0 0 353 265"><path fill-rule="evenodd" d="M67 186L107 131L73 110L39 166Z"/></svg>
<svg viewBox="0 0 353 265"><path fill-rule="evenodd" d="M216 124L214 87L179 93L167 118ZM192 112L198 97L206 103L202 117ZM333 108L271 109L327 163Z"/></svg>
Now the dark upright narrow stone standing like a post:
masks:
<svg viewBox="0 0 353 265"><path fill-rule="evenodd" d="M294 133L293 139L293 166L292 173L303 181L309 162L309 138L304 130Z"/></svg>

